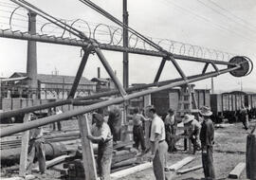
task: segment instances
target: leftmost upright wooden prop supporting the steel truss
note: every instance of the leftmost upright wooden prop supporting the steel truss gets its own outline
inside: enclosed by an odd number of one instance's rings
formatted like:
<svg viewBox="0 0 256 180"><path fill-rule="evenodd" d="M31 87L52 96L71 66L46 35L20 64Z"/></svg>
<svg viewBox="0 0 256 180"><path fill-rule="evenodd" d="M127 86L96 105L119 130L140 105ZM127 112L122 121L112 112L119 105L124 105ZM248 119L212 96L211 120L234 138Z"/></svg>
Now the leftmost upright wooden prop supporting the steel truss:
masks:
<svg viewBox="0 0 256 180"><path fill-rule="evenodd" d="M30 120L30 114L25 114L23 122L26 123ZM28 151L28 141L29 141L29 131L22 134L22 146L21 146L21 156L20 156L20 168L19 175L24 177L27 171L27 151Z"/></svg>

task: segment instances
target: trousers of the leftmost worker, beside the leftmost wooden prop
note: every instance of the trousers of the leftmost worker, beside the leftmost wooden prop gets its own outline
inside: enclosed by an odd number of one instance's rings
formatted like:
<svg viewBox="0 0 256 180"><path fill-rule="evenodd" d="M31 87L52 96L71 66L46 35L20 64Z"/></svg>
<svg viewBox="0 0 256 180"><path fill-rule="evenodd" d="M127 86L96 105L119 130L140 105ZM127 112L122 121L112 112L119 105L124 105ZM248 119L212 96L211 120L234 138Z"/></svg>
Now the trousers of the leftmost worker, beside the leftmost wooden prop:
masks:
<svg viewBox="0 0 256 180"><path fill-rule="evenodd" d="M30 173L33 166L33 161L37 157L39 163L39 171L44 173L46 171L46 154L44 139L39 138L29 141L28 155L27 155L27 171Z"/></svg>

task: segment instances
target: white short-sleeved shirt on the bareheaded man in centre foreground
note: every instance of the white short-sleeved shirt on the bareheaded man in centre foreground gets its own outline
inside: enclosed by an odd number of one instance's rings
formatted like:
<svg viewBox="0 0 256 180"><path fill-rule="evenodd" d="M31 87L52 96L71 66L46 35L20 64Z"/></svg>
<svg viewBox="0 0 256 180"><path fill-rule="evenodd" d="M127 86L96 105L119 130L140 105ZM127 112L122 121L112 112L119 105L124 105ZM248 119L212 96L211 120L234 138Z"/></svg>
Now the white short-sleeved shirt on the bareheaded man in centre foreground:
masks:
<svg viewBox="0 0 256 180"><path fill-rule="evenodd" d="M155 134L160 135L160 141L165 140L165 129L163 120L157 115L152 120L150 141L155 141Z"/></svg>

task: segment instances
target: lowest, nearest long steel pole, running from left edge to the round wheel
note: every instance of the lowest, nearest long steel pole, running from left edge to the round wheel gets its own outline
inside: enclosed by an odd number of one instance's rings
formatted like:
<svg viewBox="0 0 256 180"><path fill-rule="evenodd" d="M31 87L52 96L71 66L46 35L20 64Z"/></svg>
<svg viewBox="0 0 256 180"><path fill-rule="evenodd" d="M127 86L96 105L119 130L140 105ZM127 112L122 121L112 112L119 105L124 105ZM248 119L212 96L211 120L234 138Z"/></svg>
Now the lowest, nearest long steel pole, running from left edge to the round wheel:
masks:
<svg viewBox="0 0 256 180"><path fill-rule="evenodd" d="M7 127L7 128L2 129L2 131L0 132L0 137L17 134L17 133L20 133L20 132L24 132L24 131L36 128L36 127L44 126L44 125L49 124L49 123L61 121L61 120L64 120L66 118L82 115L82 114L88 113L90 111L93 111L95 109L99 109L99 108L106 107L106 106L109 106L109 105L112 105L112 104L117 104L117 103L124 102L125 100L128 100L128 99L136 99L137 97L141 97L141 96L156 93L156 92L159 92L159 91L171 89L175 86L180 86L180 85L183 85L183 84L186 84L186 83L191 83L193 81L205 80L205 79L208 79L210 77L218 76L219 74L228 73L230 71L233 71L233 70L236 70L236 69L239 69L239 68L240 67L237 66L237 67L222 69L222 70L219 71L219 73L211 72L208 75L202 75L200 77L193 78L191 80L176 81L174 83L164 85L164 86L161 86L161 87L158 87L158 88L148 89L148 90L145 90L145 91L140 91L140 92L137 92L137 93L134 93L134 94L131 94L131 95L127 95L125 97L125 99L123 97L119 97L119 98L116 98L116 99L110 99L110 100L95 103L95 104L92 104L92 105L89 105L89 106L86 106L86 107L78 108L76 110L72 110L72 111L69 111L69 112L66 112L66 113L63 113L63 114L60 114L60 115L44 117L44 118L33 120L33 121L30 121L30 122L27 122L27 123L17 124L15 126Z"/></svg>

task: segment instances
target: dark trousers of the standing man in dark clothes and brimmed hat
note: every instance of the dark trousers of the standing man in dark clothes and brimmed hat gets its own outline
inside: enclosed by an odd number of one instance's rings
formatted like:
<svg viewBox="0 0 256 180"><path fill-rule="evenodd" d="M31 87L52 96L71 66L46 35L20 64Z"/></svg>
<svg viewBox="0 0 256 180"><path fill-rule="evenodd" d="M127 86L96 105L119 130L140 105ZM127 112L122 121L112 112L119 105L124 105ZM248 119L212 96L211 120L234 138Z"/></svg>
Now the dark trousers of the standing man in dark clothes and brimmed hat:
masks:
<svg viewBox="0 0 256 180"><path fill-rule="evenodd" d="M212 146L202 147L202 164L206 179L215 178L212 153Z"/></svg>

